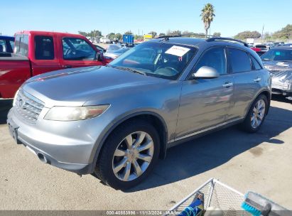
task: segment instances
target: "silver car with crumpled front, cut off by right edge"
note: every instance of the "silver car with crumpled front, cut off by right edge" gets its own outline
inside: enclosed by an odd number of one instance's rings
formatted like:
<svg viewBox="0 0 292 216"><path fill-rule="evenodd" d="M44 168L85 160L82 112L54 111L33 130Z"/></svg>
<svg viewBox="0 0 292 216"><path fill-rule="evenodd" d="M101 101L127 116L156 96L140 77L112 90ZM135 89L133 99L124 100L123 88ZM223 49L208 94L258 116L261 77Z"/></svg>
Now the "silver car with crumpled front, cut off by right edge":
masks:
<svg viewBox="0 0 292 216"><path fill-rule="evenodd" d="M292 97L292 47L271 48L261 60L272 74L272 93Z"/></svg>

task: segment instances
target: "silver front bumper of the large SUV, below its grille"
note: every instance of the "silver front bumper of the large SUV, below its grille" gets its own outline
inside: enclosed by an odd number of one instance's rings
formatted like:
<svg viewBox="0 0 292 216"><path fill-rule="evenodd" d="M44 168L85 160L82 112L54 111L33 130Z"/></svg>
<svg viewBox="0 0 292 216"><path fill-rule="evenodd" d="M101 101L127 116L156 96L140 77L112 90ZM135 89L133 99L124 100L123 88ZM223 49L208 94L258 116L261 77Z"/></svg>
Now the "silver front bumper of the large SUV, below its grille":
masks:
<svg viewBox="0 0 292 216"><path fill-rule="evenodd" d="M78 174L94 170L93 151L98 129L88 128L87 121L48 121L43 109L36 124L28 124L11 108L7 123L16 143L23 144L40 158L58 168ZM96 146L95 146L96 147ZM45 160L42 160L42 158Z"/></svg>

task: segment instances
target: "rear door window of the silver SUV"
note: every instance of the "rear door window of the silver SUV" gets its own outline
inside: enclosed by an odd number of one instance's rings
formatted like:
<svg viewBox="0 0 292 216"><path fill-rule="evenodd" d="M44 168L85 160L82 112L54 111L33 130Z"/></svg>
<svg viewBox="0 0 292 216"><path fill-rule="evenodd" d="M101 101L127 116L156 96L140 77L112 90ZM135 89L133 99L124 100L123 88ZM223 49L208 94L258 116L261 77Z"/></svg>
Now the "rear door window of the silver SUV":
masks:
<svg viewBox="0 0 292 216"><path fill-rule="evenodd" d="M251 60L247 52L235 48L229 48L228 50L232 72L237 73L252 70Z"/></svg>

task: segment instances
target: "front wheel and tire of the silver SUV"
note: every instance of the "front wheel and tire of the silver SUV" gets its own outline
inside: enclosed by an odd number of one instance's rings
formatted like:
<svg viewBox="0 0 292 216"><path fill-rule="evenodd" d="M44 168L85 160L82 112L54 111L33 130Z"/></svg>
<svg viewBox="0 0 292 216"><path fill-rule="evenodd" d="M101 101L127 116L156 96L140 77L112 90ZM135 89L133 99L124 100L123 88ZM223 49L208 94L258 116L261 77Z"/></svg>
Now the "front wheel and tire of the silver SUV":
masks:
<svg viewBox="0 0 292 216"><path fill-rule="evenodd" d="M142 120L128 121L105 141L94 174L117 190L133 188L151 173L159 151L159 136L153 125Z"/></svg>

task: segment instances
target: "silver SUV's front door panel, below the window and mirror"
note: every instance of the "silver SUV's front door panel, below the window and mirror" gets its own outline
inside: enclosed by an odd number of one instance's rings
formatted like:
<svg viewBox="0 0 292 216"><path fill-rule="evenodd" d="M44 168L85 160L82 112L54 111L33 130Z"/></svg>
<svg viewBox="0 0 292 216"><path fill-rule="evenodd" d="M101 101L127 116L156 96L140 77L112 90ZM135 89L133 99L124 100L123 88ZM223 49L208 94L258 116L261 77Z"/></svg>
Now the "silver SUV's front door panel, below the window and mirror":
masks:
<svg viewBox="0 0 292 216"><path fill-rule="evenodd" d="M225 121L233 95L232 75L210 80L185 81L180 97L176 137Z"/></svg>

